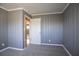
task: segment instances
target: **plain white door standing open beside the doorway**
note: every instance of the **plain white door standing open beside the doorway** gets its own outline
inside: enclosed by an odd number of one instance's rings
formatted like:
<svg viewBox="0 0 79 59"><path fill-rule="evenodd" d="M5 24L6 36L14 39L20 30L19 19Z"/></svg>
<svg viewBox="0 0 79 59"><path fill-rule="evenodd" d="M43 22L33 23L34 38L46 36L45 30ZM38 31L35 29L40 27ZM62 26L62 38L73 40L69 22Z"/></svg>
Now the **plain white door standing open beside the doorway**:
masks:
<svg viewBox="0 0 79 59"><path fill-rule="evenodd" d="M41 18L31 19L30 42L31 44L41 43Z"/></svg>

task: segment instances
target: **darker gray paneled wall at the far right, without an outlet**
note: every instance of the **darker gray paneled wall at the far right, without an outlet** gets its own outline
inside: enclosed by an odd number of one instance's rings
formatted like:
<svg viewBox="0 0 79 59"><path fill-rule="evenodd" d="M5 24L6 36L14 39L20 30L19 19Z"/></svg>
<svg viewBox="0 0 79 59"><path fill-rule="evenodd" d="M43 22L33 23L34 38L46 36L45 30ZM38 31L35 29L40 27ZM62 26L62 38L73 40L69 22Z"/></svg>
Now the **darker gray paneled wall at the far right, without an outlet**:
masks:
<svg viewBox="0 0 79 59"><path fill-rule="evenodd" d="M64 12L64 45L72 55L79 55L79 4L70 4Z"/></svg>

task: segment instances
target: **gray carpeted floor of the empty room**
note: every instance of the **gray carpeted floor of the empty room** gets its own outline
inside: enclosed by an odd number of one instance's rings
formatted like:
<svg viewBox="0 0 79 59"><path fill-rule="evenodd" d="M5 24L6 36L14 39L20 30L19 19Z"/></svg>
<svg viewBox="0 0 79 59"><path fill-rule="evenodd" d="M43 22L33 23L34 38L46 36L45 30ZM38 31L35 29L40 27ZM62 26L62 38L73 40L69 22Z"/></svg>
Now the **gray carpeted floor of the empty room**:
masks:
<svg viewBox="0 0 79 59"><path fill-rule="evenodd" d="M59 46L29 45L22 51L7 49L0 52L0 56L68 56L68 54Z"/></svg>

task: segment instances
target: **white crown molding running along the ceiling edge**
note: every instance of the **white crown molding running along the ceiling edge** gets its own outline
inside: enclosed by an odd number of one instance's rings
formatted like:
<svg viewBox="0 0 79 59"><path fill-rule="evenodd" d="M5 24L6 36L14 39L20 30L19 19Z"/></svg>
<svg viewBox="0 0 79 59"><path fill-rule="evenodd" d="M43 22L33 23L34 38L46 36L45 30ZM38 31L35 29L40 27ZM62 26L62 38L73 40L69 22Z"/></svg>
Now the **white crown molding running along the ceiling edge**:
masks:
<svg viewBox="0 0 79 59"><path fill-rule="evenodd" d="M0 8L6 10L6 11L15 11L15 10L24 10L25 12L28 12L32 16L37 16L37 15L49 15L49 14L62 14L65 9L69 6L70 3L67 3L67 5L64 7L64 9L60 12L52 12L52 13L40 13L40 14L31 14L28 10L25 10L24 8L14 8L14 9L7 9L5 7L0 6Z"/></svg>

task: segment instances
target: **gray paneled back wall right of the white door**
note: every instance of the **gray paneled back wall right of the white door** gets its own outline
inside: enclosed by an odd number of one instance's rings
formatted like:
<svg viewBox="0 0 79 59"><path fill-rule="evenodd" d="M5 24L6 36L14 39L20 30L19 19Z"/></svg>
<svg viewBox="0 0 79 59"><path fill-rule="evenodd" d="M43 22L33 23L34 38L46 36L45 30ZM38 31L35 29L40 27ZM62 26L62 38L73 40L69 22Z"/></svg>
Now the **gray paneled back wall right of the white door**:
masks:
<svg viewBox="0 0 79 59"><path fill-rule="evenodd" d="M63 16L41 16L41 43L61 44L63 41Z"/></svg>

